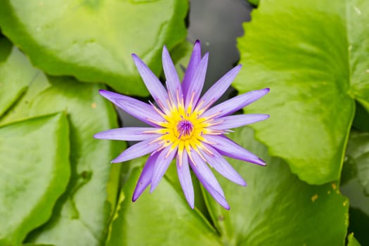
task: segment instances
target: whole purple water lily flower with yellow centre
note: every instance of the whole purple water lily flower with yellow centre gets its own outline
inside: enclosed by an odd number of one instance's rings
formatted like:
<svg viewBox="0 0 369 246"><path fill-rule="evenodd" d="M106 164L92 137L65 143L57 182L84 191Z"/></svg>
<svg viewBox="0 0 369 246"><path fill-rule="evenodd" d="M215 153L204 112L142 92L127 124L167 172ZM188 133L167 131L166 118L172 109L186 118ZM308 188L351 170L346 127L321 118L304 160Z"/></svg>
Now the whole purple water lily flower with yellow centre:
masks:
<svg viewBox="0 0 369 246"><path fill-rule="evenodd" d="M201 57L200 41L195 42L182 82L164 46L162 65L167 79L167 88L164 88L160 80L138 56L133 54L132 57L155 103L143 103L111 91L101 90L100 93L117 107L150 127L123 127L95 135L95 138L102 139L140 141L124 150L112 160L113 163L126 162L150 153L138 179L132 200L136 201L149 185L150 192L153 192L171 161L176 159L179 181L191 208L194 207L194 192L190 169L212 197L221 206L229 209L224 191L209 167L234 183L246 186L245 180L231 167L223 155L265 165L263 160L233 142L226 134L229 129L259 122L269 117L261 114L232 115L233 112L257 101L268 93L269 89L243 93L212 107L231 85L241 65L227 72L203 96L200 96L208 60L208 53Z"/></svg>

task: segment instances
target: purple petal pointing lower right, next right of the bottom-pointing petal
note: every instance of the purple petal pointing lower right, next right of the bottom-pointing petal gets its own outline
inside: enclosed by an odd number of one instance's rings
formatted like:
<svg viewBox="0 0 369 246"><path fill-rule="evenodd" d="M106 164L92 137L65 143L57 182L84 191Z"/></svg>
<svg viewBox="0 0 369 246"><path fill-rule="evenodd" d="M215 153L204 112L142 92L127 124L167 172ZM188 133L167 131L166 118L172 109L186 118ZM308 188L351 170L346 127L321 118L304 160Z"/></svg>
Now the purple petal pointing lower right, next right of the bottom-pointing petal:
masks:
<svg viewBox="0 0 369 246"><path fill-rule="evenodd" d="M198 177L199 181L205 187L205 189L212 195L212 197L225 209L229 209L228 202L226 198L224 198L224 192L221 189L218 181L215 179L212 171L207 167L207 164L198 156L197 153L192 153L193 163L190 160L190 166L193 169L193 172Z"/></svg>

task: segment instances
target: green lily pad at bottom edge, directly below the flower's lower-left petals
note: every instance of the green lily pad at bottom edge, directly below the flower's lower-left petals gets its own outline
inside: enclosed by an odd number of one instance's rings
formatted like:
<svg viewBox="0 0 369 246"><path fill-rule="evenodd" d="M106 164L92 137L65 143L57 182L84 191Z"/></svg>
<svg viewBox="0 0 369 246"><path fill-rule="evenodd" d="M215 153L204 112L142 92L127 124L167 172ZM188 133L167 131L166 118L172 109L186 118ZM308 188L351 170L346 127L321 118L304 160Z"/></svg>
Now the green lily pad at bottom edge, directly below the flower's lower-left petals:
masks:
<svg viewBox="0 0 369 246"><path fill-rule="evenodd" d="M131 201L141 172L135 168L124 184L112 221L107 246L115 245L221 245L214 229L183 195L162 179L155 192L146 190Z"/></svg>

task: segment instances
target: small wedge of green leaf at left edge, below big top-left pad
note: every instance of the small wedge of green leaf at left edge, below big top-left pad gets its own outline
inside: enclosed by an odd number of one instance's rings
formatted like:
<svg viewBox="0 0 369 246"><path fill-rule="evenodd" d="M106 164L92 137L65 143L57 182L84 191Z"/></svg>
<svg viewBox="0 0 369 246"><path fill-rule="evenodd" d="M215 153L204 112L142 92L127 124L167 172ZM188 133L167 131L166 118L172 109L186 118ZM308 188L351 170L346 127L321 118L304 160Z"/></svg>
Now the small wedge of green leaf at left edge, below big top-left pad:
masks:
<svg viewBox="0 0 369 246"><path fill-rule="evenodd" d="M0 37L0 117L25 93L38 72L18 48Z"/></svg>

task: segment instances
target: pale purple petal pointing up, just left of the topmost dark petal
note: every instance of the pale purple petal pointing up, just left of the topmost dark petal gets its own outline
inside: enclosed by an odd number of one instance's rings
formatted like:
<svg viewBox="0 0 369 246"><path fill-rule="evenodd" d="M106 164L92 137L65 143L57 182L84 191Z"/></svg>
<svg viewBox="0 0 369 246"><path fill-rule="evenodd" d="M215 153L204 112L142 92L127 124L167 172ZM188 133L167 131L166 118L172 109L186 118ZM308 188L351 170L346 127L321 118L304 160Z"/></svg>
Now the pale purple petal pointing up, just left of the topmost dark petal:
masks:
<svg viewBox="0 0 369 246"><path fill-rule="evenodd" d="M163 52L162 52L162 63L163 63L164 75L165 75L165 78L167 79L168 91L173 101L176 102L177 101L176 100L177 91L179 93L179 98L183 98L182 87L181 87L181 82L179 80L178 74L176 72L176 67L174 67L173 61L171 60L169 56L169 52L166 46L164 46Z"/></svg>

